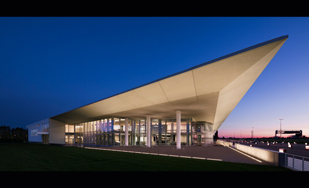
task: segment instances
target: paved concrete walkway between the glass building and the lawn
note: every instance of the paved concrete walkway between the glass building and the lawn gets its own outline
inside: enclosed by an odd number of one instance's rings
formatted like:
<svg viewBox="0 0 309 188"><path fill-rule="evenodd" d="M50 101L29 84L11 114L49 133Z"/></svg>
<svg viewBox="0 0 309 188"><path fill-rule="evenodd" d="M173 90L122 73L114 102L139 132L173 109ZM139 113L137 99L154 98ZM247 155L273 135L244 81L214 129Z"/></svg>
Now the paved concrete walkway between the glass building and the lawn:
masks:
<svg viewBox="0 0 309 188"><path fill-rule="evenodd" d="M85 148L87 148L85 146ZM114 146L114 147L89 147L92 149L117 150L124 152L167 155L172 157L190 157L204 160L216 160L234 163L248 163L259 165L270 165L265 161L259 161L251 158L247 154L243 154L235 150L233 147L225 146L182 146L181 149L176 149L175 146Z"/></svg>

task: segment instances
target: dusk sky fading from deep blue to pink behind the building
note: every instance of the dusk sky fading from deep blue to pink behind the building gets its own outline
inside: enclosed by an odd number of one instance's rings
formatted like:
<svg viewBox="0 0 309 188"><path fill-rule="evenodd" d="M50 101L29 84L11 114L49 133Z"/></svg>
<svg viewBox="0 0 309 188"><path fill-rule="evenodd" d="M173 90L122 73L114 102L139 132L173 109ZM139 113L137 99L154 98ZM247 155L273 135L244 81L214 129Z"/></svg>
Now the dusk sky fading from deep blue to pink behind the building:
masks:
<svg viewBox="0 0 309 188"><path fill-rule="evenodd" d="M308 17L0 17L0 125L26 128L289 35L219 136L275 136L279 118L309 136L308 33Z"/></svg>

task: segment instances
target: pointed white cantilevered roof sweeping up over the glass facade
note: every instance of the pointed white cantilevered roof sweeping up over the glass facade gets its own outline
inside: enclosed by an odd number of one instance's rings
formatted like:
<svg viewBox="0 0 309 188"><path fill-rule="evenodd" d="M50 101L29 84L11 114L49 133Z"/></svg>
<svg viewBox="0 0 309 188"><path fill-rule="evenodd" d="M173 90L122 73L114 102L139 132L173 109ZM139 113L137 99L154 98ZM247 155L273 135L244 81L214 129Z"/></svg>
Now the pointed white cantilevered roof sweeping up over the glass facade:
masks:
<svg viewBox="0 0 309 188"><path fill-rule="evenodd" d="M288 36L197 65L121 94L51 117L80 123L107 117L181 117L213 123L216 131L272 60Z"/></svg>

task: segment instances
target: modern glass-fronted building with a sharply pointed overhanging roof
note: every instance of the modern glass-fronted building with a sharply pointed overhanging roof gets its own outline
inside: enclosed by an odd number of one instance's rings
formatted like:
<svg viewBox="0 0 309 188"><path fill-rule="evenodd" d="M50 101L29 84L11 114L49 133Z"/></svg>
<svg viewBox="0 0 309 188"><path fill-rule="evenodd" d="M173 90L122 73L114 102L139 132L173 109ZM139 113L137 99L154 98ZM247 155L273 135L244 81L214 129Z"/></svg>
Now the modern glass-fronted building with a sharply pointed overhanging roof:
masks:
<svg viewBox="0 0 309 188"><path fill-rule="evenodd" d="M288 36L27 125L29 142L101 146L212 145Z"/></svg>

